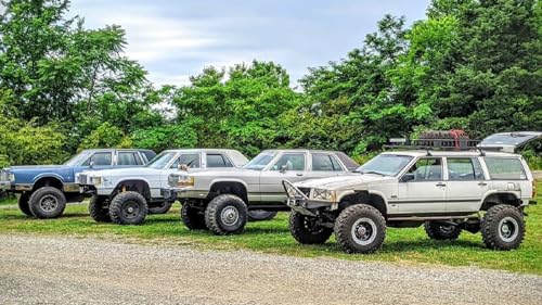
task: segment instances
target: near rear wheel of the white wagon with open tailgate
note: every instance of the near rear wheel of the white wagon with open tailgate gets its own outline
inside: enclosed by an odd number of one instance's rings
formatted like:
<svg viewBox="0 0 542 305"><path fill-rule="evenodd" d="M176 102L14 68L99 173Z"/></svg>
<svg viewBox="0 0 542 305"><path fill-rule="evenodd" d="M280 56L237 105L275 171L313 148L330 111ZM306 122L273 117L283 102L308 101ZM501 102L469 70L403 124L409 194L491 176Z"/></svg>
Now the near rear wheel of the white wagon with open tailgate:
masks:
<svg viewBox="0 0 542 305"><path fill-rule="evenodd" d="M489 249L517 249L525 237L524 215L512 205L492 206L481 219L481 236Z"/></svg>

